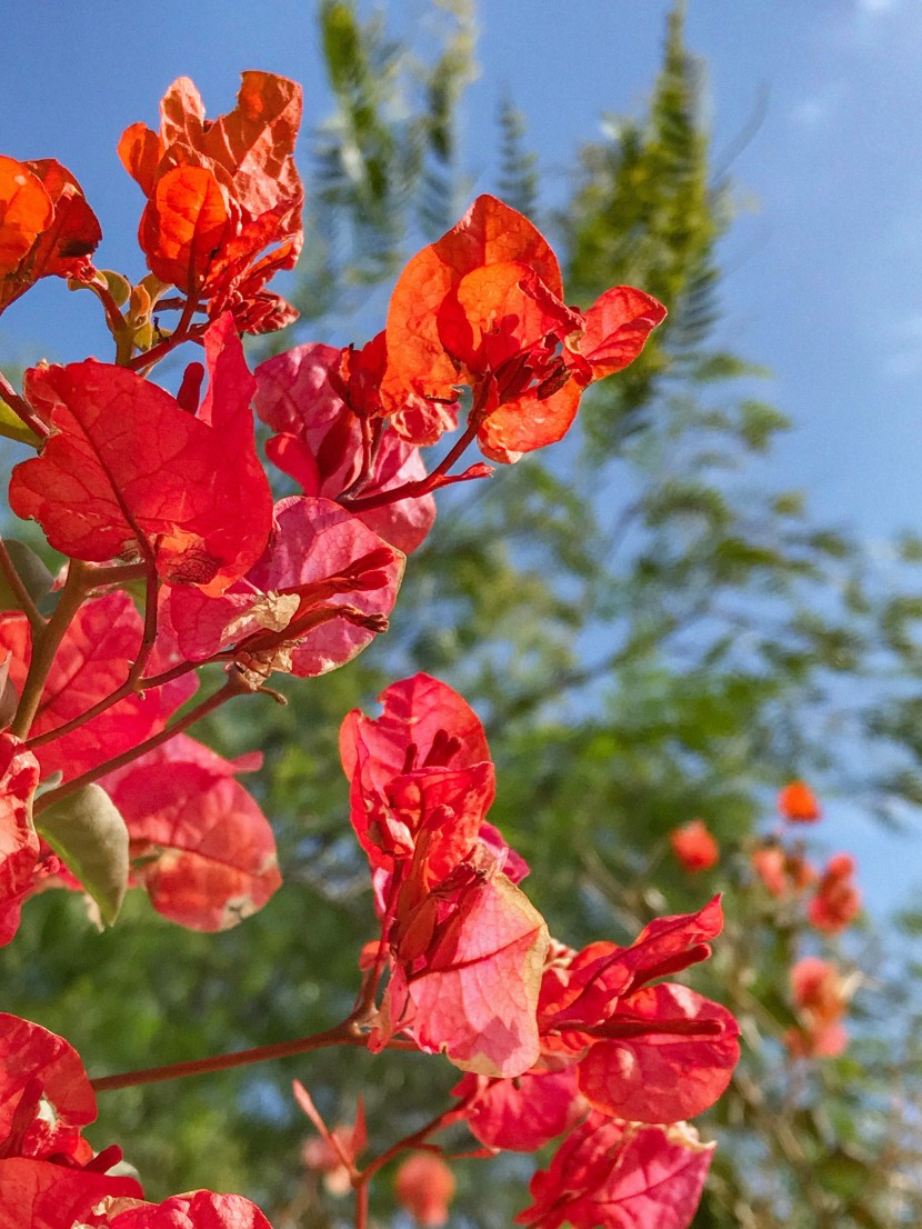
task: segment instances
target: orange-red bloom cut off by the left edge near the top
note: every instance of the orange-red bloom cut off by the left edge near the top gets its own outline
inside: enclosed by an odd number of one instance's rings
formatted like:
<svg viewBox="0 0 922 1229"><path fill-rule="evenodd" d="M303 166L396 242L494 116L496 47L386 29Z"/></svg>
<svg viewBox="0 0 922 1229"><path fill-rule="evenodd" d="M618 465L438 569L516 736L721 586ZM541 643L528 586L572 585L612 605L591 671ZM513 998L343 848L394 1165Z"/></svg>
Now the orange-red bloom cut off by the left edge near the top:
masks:
<svg viewBox="0 0 922 1229"><path fill-rule="evenodd" d="M0 155L0 311L39 278L84 278L102 238L70 171Z"/></svg>

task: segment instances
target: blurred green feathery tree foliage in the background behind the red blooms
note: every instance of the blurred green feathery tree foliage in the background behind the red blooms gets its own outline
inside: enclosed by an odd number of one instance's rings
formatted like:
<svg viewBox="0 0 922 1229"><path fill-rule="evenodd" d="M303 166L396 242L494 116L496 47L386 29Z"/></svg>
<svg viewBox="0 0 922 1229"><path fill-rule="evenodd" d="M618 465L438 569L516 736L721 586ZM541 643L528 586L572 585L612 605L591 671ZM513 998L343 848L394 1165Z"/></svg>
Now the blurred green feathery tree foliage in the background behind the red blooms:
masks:
<svg viewBox="0 0 922 1229"><path fill-rule="evenodd" d="M475 14L463 0L438 9L440 39L423 54L390 37L382 12L317 4L336 111L306 177L297 301L311 340L341 340L463 206L454 130L476 71ZM66 1035L93 1074L280 1041L348 1013L374 918L338 725L393 678L427 670L488 726L492 819L530 862L526 887L558 938L627 941L654 913L727 891L728 933L691 980L740 1015L746 1046L699 1123L720 1147L696 1227L918 1223L912 967L859 933L841 954L864 970L852 1047L792 1067L782 1037L802 928L752 886L746 850L793 777L881 816L922 803L922 549L901 543L894 592L847 530L814 522L802 493L760 489L758 458L787 423L761 399L758 369L713 340L733 194L712 177L701 90L677 7L647 112L610 119L583 147L550 226L570 299L629 283L668 304L642 359L584 398L558 447L445 493L391 633L361 659L283 681L286 708L257 697L200 731L225 753L264 751L250 784L278 834L284 889L220 935L181 932L135 893L102 935L77 900L28 903L0 952L4 1005ZM509 101L497 143L497 190L531 209L540 163ZM668 852L692 816L723 849L697 879ZM917 941L920 919L904 925ZM92 1138L122 1143L151 1197L238 1190L277 1229L341 1224L348 1208L300 1168L310 1129L291 1078L331 1123L349 1120L361 1093L374 1154L444 1107L455 1074L422 1056L322 1052L106 1094ZM526 1200L529 1159L459 1161L457 1172L459 1217L472 1223L508 1225ZM376 1215L392 1212L386 1182L374 1198Z"/></svg>

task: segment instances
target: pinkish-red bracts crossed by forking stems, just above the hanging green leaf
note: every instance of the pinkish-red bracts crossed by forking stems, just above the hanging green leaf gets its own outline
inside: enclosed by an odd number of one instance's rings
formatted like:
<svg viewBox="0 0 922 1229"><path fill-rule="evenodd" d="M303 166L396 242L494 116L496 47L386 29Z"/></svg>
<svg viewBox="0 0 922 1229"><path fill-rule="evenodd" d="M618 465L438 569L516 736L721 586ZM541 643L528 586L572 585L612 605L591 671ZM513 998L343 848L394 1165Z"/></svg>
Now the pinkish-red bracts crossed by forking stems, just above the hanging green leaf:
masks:
<svg viewBox="0 0 922 1229"><path fill-rule="evenodd" d="M30 734L50 734L117 691L138 656L143 634L144 621L128 594L112 591L84 602L48 671ZM11 650L10 678L21 688L32 656L25 614L0 616L0 645ZM154 671L160 660L155 653ZM188 673L128 696L70 734L43 744L36 748L42 775L60 772L70 780L159 734L197 686L194 675Z"/></svg>

